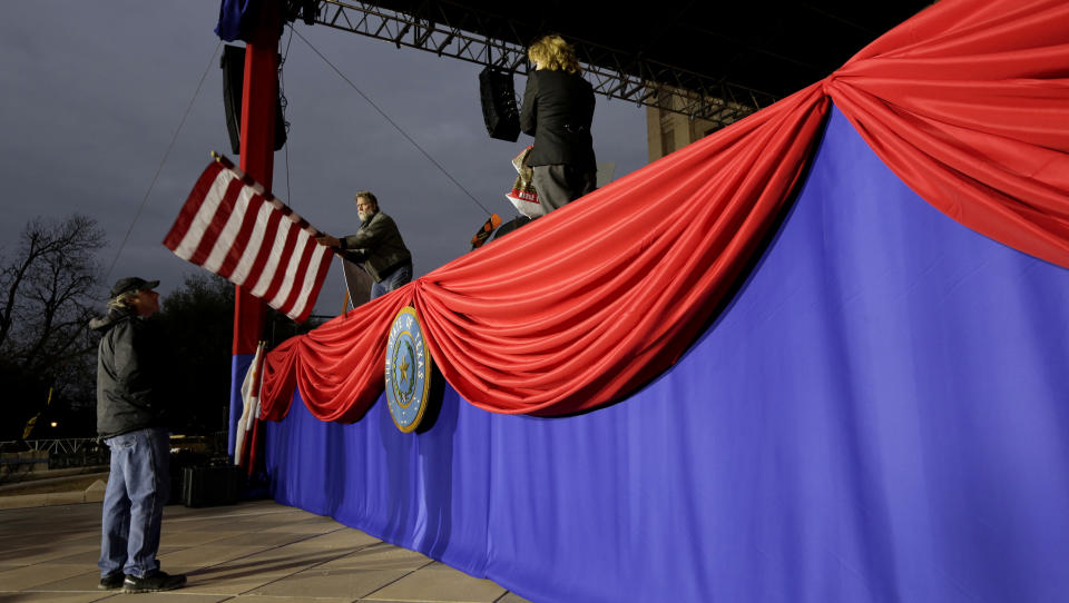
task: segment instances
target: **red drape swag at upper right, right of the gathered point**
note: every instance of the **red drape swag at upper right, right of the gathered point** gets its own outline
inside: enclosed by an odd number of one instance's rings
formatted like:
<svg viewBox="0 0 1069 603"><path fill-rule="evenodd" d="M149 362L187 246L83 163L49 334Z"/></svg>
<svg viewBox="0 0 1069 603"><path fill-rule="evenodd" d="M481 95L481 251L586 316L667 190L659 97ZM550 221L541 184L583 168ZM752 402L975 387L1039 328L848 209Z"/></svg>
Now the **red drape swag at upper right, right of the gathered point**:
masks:
<svg viewBox="0 0 1069 603"><path fill-rule="evenodd" d="M824 87L921 198L1069 267L1069 4L940 2Z"/></svg>

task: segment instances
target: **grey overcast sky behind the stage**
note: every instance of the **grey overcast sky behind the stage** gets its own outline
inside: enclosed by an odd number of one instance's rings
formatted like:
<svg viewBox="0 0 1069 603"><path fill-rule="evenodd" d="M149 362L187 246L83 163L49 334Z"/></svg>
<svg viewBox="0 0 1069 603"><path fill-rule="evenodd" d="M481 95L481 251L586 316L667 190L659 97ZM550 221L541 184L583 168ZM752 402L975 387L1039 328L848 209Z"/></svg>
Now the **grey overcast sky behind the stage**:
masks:
<svg viewBox="0 0 1069 603"><path fill-rule="evenodd" d="M129 275L159 278L166 295L184 274L203 270L160 241L209 151L231 155L214 32L218 10L219 0L4 2L4 257L29 219L79 211L107 235L99 259L105 271L115 261L108 285ZM504 199L516 176L510 160L531 138L507 142L487 135L480 66L323 26L294 27L483 206L506 220L516 216ZM286 55L291 130L286 148L275 154L275 195L317 228L341 236L359 226L353 194L374 191L412 250L415 276L465 253L487 214L304 41L291 41L288 28L279 51ZM517 77L517 91L523 86ZM638 169L647 157L645 109L598 96L594 139L598 161L616 162L617 178ZM341 270L332 268L316 313L337 314L343 287Z"/></svg>

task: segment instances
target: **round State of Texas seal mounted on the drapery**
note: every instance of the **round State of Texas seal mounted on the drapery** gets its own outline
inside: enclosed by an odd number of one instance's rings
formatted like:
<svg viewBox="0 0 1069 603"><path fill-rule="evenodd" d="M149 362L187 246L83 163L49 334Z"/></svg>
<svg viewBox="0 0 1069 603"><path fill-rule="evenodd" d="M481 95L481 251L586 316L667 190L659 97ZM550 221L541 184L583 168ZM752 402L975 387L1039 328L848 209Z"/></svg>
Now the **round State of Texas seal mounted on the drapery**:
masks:
<svg viewBox="0 0 1069 603"><path fill-rule="evenodd" d="M386 402L393 423L409 433L420 426L431 388L431 355L415 308L405 306L386 340Z"/></svg>

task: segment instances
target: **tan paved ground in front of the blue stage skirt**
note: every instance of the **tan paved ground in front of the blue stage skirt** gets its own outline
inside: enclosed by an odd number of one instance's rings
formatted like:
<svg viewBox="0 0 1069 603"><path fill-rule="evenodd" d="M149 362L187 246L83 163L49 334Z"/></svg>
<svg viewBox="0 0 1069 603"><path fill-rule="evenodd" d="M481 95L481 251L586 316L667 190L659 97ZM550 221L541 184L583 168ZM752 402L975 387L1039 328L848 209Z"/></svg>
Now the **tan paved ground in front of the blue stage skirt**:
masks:
<svg viewBox="0 0 1069 603"><path fill-rule="evenodd" d="M99 532L100 503L0 510L0 602L526 601L489 580L273 501L168 506L159 560L164 571L187 574L187 586L102 592Z"/></svg>

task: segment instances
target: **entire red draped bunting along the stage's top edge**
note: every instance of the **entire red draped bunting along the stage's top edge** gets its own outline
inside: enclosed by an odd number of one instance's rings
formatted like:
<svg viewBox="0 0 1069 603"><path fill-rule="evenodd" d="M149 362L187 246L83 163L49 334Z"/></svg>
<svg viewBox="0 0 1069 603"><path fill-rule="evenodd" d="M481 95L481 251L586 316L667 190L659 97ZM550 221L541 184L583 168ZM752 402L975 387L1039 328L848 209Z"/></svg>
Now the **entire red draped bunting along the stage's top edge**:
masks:
<svg viewBox="0 0 1069 603"><path fill-rule="evenodd" d="M267 356L263 408L294 386L355 421L383 387L390 323L414 304L469 402L562 415L668 368L786 205L830 99L951 218L1069 267L1069 6L944 0L842 69Z"/></svg>

